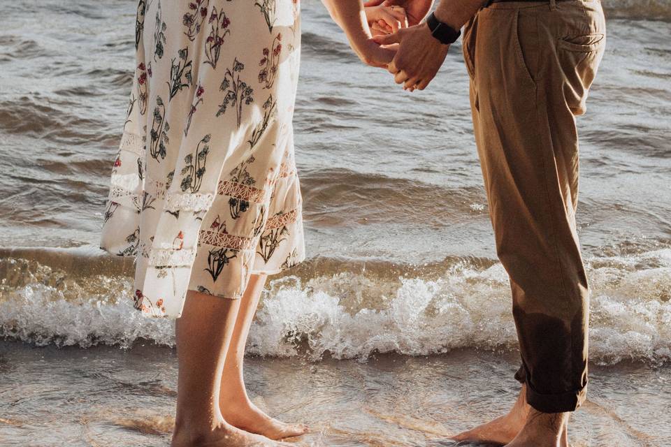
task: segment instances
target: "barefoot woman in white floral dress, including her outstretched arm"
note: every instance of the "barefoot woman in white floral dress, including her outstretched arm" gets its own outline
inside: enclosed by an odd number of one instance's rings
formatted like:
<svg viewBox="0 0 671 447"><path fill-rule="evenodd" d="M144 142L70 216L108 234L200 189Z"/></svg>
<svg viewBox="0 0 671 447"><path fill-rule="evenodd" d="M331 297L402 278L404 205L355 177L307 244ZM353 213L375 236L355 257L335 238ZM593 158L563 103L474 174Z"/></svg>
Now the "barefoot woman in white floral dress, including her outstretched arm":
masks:
<svg viewBox="0 0 671 447"><path fill-rule="evenodd" d="M391 60L361 0L324 2L361 59ZM136 257L138 310L179 318L173 446L275 445L306 430L257 409L242 369L267 275L305 256L291 126L300 42L298 0L139 0L101 248Z"/></svg>

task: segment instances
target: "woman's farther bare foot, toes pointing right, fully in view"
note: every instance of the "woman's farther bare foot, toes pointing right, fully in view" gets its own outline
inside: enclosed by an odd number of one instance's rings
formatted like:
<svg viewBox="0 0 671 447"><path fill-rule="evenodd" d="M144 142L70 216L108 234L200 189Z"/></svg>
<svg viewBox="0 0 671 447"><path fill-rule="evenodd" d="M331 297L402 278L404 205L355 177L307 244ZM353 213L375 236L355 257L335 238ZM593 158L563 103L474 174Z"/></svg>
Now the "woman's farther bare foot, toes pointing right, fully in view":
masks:
<svg viewBox="0 0 671 447"><path fill-rule="evenodd" d="M219 401L222 415L226 422L240 430L261 434L270 439L291 438L308 432L308 427L303 424L287 424L271 418L254 405L247 393L238 399L227 401Z"/></svg>

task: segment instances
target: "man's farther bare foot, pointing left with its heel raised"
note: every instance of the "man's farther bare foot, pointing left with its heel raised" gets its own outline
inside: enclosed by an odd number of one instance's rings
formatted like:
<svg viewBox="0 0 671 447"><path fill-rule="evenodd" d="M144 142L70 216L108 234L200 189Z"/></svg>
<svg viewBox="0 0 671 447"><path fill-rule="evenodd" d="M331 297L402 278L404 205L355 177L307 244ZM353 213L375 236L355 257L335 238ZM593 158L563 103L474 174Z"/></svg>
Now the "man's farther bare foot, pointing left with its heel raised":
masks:
<svg viewBox="0 0 671 447"><path fill-rule="evenodd" d="M472 430L459 433L452 437L452 439L455 441L508 444L524 427L531 409L531 406L526 403L526 385L523 385L517 397L517 402L515 402L512 409L505 416L500 416Z"/></svg>

